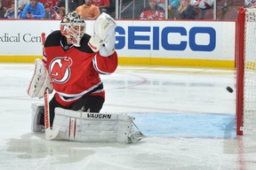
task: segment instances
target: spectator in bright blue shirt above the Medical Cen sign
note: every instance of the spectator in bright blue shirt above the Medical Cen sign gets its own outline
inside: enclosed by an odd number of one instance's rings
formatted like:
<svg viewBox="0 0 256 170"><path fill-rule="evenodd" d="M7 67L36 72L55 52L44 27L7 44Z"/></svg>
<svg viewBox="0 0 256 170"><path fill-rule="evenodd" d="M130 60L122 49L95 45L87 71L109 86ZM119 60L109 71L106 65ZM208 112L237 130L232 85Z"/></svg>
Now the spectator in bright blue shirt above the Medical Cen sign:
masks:
<svg viewBox="0 0 256 170"><path fill-rule="evenodd" d="M38 0L29 0L21 14L22 19L44 19L44 4L39 3Z"/></svg>

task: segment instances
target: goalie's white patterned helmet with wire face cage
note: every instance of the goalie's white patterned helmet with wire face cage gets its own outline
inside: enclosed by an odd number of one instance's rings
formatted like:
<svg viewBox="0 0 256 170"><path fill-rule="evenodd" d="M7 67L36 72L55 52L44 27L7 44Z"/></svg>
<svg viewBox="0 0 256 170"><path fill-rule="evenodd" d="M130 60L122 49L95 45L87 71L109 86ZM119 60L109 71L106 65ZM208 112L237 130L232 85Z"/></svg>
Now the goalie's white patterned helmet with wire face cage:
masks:
<svg viewBox="0 0 256 170"><path fill-rule="evenodd" d="M69 12L60 22L61 35L66 36L76 46L80 47L86 24L76 12Z"/></svg>

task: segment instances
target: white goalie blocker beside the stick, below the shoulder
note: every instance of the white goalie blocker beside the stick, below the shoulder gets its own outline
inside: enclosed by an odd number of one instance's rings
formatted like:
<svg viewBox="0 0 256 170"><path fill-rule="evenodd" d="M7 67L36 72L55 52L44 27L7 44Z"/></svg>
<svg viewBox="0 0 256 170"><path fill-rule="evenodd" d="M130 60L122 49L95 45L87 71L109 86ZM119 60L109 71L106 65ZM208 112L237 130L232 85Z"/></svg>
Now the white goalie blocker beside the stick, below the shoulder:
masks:
<svg viewBox="0 0 256 170"><path fill-rule="evenodd" d="M44 66L44 62L37 58L35 60L35 71L28 86L28 96L42 98L44 97L45 89L49 89L49 93L52 93L52 81Z"/></svg>

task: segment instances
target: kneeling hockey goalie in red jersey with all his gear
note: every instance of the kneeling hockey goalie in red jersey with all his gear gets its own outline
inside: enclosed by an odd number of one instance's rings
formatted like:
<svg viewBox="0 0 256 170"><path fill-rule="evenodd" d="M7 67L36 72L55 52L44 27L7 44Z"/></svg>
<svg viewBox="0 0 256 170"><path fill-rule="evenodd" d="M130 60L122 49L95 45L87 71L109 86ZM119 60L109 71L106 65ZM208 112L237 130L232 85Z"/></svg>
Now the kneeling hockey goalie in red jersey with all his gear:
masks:
<svg viewBox="0 0 256 170"><path fill-rule="evenodd" d="M29 97L44 97L32 104L32 131L77 142L137 143L143 135L126 114L100 113L105 91L100 74L114 73L116 22L102 13L92 37L76 12L69 12L44 42L43 59L36 59L28 86ZM48 94L54 96L48 102Z"/></svg>

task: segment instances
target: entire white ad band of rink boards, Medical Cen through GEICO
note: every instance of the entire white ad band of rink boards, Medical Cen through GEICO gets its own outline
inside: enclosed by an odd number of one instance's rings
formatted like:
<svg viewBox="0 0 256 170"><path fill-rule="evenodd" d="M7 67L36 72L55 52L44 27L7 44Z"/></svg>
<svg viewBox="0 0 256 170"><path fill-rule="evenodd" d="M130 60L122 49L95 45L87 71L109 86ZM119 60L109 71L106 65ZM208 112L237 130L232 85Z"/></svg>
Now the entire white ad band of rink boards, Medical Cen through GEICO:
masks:
<svg viewBox="0 0 256 170"><path fill-rule="evenodd" d="M92 35L93 21L86 21ZM211 58L233 60L235 22L116 20L120 57ZM40 55L41 33L60 28L60 20L1 20L1 55Z"/></svg>

